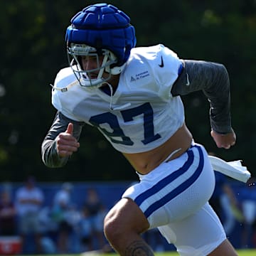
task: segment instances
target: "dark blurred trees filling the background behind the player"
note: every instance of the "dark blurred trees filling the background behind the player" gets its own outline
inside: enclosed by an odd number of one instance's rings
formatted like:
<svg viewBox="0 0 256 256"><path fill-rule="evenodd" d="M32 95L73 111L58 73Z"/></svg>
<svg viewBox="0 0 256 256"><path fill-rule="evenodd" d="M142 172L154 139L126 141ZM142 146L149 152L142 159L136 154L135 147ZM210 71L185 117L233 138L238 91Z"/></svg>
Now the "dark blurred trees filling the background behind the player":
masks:
<svg viewBox="0 0 256 256"><path fill-rule="evenodd" d="M65 30L74 14L97 2L100 1L1 2L0 183L2 188L11 183L13 195L28 176L36 177L46 198L53 196L64 181L82 182L85 188L90 183L95 187L96 181L97 184L116 181L112 185L119 183L123 191L137 180L137 174L122 154L91 127L84 127L80 149L67 166L48 169L41 161L41 142L55 115L50 83L58 70L68 65ZM180 58L225 65L230 74L237 144L230 150L215 146L210 137L209 104L203 92L183 97L186 123L196 142L226 161L242 159L255 176L256 1L113 0L108 3L130 16L136 29L137 46L163 43ZM50 182L55 185L49 188ZM48 193L49 189L53 191ZM102 198L106 200L104 194ZM111 203L115 200L112 198ZM107 201L107 206L111 203Z"/></svg>

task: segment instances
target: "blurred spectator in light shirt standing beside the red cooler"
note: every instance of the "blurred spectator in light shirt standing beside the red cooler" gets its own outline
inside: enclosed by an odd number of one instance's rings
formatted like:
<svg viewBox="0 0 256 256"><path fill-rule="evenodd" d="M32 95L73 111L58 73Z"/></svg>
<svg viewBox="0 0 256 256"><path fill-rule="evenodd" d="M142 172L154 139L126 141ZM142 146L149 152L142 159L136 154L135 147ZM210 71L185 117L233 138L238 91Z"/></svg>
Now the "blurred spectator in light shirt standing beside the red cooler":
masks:
<svg viewBox="0 0 256 256"><path fill-rule="evenodd" d="M44 196L40 188L36 187L36 180L28 177L24 186L16 191L16 210L18 214L18 233L21 235L23 250L28 247L27 239L32 236L36 248L34 252L41 252L41 230L39 213L43 204ZM29 243L31 246L31 242ZM30 250L30 249L29 249Z"/></svg>

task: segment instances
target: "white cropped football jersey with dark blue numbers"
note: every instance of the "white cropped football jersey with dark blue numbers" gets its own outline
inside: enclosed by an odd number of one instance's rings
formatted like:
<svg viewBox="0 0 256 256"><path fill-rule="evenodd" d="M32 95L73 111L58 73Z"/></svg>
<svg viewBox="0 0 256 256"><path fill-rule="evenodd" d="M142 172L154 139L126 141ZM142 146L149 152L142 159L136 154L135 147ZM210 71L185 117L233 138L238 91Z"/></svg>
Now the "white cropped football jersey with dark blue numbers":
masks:
<svg viewBox="0 0 256 256"><path fill-rule="evenodd" d="M149 151L166 142L184 122L183 103L171 95L181 60L163 45L133 48L114 95L81 87L71 68L55 78L53 106L85 122L124 153ZM73 85L73 86L68 86Z"/></svg>

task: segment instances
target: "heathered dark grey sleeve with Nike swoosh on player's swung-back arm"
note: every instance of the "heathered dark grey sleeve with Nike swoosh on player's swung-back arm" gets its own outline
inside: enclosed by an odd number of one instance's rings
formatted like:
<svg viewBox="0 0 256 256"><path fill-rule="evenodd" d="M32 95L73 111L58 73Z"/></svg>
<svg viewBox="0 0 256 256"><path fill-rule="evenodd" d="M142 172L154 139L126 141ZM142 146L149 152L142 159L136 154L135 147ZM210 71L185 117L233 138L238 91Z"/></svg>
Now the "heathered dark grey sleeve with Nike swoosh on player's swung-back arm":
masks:
<svg viewBox="0 0 256 256"><path fill-rule="evenodd" d="M203 90L210 102L210 125L215 132L231 131L230 81L224 65L202 60L183 60L183 71L171 94L187 95Z"/></svg>

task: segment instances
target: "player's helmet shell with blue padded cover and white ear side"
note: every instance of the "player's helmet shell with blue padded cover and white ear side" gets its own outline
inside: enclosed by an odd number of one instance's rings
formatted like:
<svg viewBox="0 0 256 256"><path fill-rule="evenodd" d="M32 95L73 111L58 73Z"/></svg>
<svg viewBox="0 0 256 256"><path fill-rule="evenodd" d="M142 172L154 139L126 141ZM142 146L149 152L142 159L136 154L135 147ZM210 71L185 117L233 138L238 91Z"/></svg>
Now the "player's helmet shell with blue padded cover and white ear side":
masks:
<svg viewBox="0 0 256 256"><path fill-rule="evenodd" d="M93 4L73 16L65 41L68 53L78 64L77 70L82 69L79 66L79 55L103 53L109 58L105 66L99 69L114 75L121 73L131 49L136 45L134 26L129 22L129 16L111 4ZM90 85L93 83L90 81Z"/></svg>

